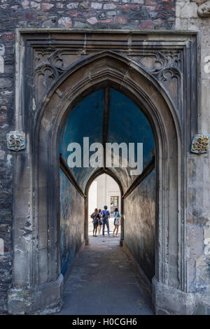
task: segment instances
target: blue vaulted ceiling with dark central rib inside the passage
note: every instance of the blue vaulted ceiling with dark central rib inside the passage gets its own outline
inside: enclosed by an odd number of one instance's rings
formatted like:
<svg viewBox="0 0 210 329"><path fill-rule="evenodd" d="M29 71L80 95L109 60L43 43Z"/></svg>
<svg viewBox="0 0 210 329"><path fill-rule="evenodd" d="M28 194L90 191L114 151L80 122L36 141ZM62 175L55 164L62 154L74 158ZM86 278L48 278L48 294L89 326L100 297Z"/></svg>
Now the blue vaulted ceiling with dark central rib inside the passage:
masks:
<svg viewBox="0 0 210 329"><path fill-rule="evenodd" d="M85 191L87 181L99 168L83 167L83 137L89 137L90 144L99 142L103 146L107 142L125 142L127 146L135 143L136 157L137 143L143 143L144 168L155 153L153 132L144 113L124 94L109 87L97 90L80 101L69 114L62 130L59 152L66 165L71 153L67 151L68 145L76 142L81 146L82 167L69 170L80 189ZM94 152L90 152L90 155L92 153ZM104 160L106 167L106 159ZM109 169L118 177L124 191L137 179L137 176L130 174L130 167Z"/></svg>

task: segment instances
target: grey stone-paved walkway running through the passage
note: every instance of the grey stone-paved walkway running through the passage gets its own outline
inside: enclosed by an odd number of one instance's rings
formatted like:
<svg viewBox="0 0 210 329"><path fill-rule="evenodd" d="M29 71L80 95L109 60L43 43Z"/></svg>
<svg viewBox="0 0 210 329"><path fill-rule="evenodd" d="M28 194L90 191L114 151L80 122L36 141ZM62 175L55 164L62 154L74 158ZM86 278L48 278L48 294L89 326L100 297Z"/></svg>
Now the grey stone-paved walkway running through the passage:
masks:
<svg viewBox="0 0 210 329"><path fill-rule="evenodd" d="M90 245L80 251L66 281L59 314L153 314L150 297L137 282L119 241L120 237L90 236Z"/></svg>

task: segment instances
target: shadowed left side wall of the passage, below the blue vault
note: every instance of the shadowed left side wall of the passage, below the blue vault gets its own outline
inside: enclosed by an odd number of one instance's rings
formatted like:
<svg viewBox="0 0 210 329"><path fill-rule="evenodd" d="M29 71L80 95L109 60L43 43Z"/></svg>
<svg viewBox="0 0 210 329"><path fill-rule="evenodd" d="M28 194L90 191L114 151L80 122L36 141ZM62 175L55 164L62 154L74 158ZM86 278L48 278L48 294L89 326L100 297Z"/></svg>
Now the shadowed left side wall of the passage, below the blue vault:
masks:
<svg viewBox="0 0 210 329"><path fill-rule="evenodd" d="M85 202L62 169L59 176L61 272L65 275L84 240Z"/></svg>

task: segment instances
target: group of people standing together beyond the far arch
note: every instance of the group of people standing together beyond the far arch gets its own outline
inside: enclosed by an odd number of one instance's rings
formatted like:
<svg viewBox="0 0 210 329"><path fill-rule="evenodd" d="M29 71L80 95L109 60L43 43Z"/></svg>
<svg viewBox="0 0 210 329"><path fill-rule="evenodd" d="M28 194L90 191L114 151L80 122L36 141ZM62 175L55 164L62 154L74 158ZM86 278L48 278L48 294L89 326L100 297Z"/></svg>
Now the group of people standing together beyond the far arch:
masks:
<svg viewBox="0 0 210 329"><path fill-rule="evenodd" d="M107 209L107 206L104 206L104 209L94 209L94 213L90 216L92 218L92 224L93 224L93 237L97 237L98 235L101 235L101 230L102 230L102 236L104 237L104 231L105 231L105 225L107 228L107 234L109 234L109 218L110 218L110 212ZM119 226L121 224L120 218L120 211L118 208L116 208L113 212L114 216L114 230L113 230L113 237L118 236L118 230ZM116 233L116 235L115 235Z"/></svg>

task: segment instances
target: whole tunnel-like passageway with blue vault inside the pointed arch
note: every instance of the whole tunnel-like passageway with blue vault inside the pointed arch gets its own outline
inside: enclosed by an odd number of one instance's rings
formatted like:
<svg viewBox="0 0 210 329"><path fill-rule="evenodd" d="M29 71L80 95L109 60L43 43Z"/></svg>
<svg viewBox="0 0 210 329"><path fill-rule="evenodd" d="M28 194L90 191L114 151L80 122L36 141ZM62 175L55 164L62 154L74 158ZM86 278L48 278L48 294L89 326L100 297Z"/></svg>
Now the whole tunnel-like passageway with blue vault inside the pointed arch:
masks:
<svg viewBox="0 0 210 329"><path fill-rule="evenodd" d="M113 153L106 152L107 145ZM141 277L151 290L155 274L155 140L148 118L117 90L97 90L71 109L62 128L59 153L61 272L66 281L60 314L151 314L150 294L139 286L134 265L123 252L125 249L136 268L141 267ZM138 170L132 170L134 167ZM118 189L106 194L103 202L98 197L92 204L90 186L105 173ZM113 196L122 214L120 237L92 237L90 212L104 204L111 210ZM110 223L113 225L113 219Z"/></svg>

